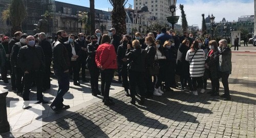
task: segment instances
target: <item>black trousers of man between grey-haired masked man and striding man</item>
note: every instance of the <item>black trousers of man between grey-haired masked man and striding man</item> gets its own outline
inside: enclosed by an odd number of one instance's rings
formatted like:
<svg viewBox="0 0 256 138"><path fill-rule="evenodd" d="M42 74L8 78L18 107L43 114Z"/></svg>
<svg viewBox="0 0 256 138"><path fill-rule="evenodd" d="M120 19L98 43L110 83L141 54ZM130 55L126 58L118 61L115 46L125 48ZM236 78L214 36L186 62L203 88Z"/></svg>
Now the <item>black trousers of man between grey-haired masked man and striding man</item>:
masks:
<svg viewBox="0 0 256 138"><path fill-rule="evenodd" d="M50 80L50 72L51 72L51 61L46 62L46 70L43 77L42 87L45 89L51 88L51 80Z"/></svg>

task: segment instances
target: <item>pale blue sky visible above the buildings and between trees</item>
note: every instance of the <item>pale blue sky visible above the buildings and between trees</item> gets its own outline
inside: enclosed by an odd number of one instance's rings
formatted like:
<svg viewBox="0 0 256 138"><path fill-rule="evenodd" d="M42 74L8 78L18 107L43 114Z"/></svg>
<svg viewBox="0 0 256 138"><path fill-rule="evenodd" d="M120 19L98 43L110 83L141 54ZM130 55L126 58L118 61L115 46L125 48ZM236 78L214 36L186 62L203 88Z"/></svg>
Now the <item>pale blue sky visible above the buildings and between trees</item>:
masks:
<svg viewBox="0 0 256 138"><path fill-rule="evenodd" d="M89 0L56 1L90 7ZM134 0L128 0L125 7L128 8L128 4L133 5L133 2ZM220 22L223 17L225 17L227 21L237 21L240 16L254 15L253 0L177 0L177 16L181 15L181 11L178 8L180 4L184 5L188 25L197 25L199 28L202 26L203 13L205 17L207 17L208 14L213 14L216 22ZM95 9L109 11L111 8L113 7L108 0L95 0ZM181 24L181 17L178 24Z"/></svg>

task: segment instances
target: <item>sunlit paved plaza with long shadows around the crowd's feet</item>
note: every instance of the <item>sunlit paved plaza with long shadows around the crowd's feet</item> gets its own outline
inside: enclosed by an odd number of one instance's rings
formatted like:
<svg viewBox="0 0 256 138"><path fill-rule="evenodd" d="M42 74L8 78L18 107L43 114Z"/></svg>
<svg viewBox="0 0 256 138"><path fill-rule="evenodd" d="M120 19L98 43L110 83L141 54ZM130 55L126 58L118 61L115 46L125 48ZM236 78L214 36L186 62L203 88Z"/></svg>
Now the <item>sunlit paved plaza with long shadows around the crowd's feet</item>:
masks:
<svg viewBox="0 0 256 138"><path fill-rule="evenodd" d="M33 127L38 118L28 119L29 123L23 123L26 125L19 125L17 120L10 123L16 127L13 130L29 127L30 131L22 135L10 132L0 137L256 137L256 47L250 44L239 51L231 49L231 101L174 89L174 93L147 99L143 106L138 101L132 105L121 84L112 83L111 97L116 104L108 107L103 105L101 96L91 95L90 83L82 83L80 87L70 83L69 93L64 97L64 104L71 105L70 109L56 114L50 104L43 105L42 127ZM1 89L10 88L10 84L4 85L2 81L0 85ZM209 91L210 81L207 87ZM52 101L56 95L54 78L52 88L44 93L46 100ZM220 80L220 93L223 92ZM34 93L31 96L36 99ZM19 100L22 99L9 92L8 112L10 101ZM22 107L20 110L23 111Z"/></svg>

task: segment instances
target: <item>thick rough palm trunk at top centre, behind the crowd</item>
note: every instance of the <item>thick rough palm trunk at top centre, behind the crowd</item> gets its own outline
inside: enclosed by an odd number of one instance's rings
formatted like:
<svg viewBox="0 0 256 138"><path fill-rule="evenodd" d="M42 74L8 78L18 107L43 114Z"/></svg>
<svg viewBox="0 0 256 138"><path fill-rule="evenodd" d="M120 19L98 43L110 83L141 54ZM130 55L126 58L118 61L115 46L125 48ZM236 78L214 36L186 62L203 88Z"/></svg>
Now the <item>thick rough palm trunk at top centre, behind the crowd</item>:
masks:
<svg viewBox="0 0 256 138"><path fill-rule="evenodd" d="M112 27L116 29L118 35L126 34L126 13L124 10L124 5L128 0L109 0L110 4L113 6L112 10Z"/></svg>

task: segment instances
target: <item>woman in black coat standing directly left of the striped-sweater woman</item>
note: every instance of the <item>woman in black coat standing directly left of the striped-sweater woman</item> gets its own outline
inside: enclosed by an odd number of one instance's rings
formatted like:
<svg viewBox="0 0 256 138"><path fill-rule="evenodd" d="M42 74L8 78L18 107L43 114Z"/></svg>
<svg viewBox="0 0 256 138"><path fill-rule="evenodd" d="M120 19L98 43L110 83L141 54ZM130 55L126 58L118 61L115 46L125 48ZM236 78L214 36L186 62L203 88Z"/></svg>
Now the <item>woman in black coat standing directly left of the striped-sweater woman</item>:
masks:
<svg viewBox="0 0 256 138"><path fill-rule="evenodd" d="M177 54L177 70L176 74L180 76L181 91L188 82L189 90L192 90L192 83L189 77L189 63L186 61L186 54L189 50L189 40L185 39L179 46Z"/></svg>

